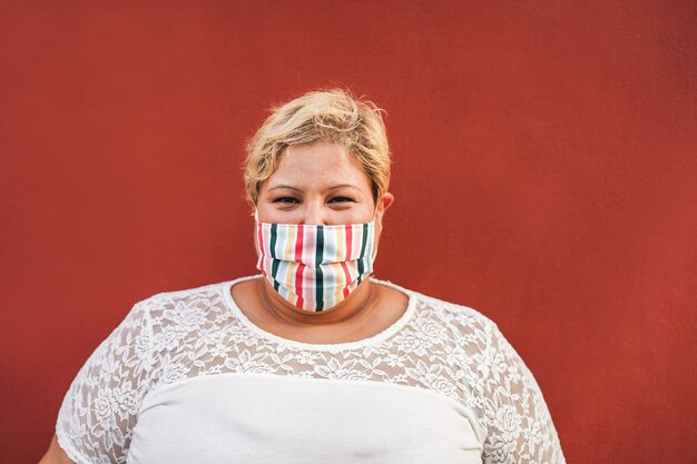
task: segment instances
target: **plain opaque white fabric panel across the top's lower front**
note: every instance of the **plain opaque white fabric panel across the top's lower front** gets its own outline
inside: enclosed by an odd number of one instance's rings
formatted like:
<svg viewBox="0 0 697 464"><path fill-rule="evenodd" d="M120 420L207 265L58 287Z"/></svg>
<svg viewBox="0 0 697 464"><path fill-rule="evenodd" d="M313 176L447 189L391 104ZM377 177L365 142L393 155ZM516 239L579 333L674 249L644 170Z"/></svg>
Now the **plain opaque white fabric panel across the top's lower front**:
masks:
<svg viewBox="0 0 697 464"><path fill-rule="evenodd" d="M471 411L418 387L268 374L151 392L128 463L481 463Z"/></svg>

